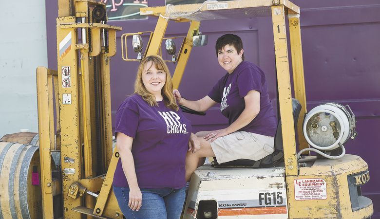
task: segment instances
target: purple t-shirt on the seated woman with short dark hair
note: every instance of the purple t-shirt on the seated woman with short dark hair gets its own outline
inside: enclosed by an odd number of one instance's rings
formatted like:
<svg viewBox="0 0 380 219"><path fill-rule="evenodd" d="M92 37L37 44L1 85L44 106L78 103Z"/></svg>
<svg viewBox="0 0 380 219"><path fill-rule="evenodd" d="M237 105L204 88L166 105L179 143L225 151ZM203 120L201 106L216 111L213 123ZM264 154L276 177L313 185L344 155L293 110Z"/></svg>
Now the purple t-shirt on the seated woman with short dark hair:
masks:
<svg viewBox="0 0 380 219"><path fill-rule="evenodd" d="M255 64L243 61L232 73L227 73L211 89L208 96L220 103L220 111L231 125L246 107L244 97L249 91L260 92L260 112L239 131L247 131L274 137L277 119L269 99L264 72Z"/></svg>

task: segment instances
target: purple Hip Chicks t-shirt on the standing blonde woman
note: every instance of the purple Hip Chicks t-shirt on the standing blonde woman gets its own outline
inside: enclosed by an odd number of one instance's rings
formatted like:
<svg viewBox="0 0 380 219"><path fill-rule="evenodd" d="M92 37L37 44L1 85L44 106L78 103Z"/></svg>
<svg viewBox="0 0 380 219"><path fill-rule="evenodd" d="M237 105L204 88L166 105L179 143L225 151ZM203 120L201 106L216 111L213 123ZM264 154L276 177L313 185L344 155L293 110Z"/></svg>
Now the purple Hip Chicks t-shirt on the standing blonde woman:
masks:
<svg viewBox="0 0 380 219"><path fill-rule="evenodd" d="M132 154L140 188L185 186L191 124L181 110L168 109L164 101L151 107L140 95L133 94L116 112L116 132L133 137ZM113 185L129 187L120 159Z"/></svg>

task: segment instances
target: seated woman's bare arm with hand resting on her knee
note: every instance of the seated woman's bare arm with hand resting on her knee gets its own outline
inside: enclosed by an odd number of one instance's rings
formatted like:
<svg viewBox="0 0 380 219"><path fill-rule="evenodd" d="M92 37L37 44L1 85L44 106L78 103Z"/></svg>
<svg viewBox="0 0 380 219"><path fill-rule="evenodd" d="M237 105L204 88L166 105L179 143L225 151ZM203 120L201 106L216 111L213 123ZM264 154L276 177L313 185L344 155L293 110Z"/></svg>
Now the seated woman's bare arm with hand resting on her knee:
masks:
<svg viewBox="0 0 380 219"><path fill-rule="evenodd" d="M227 128L209 132L205 136L205 139L211 139L211 142L213 142L218 137L222 137L235 132L252 122L252 120L260 112L260 92L255 90L249 91L247 95L244 96L244 102L246 103L246 107L240 116L235 120L235 122L233 122Z"/></svg>

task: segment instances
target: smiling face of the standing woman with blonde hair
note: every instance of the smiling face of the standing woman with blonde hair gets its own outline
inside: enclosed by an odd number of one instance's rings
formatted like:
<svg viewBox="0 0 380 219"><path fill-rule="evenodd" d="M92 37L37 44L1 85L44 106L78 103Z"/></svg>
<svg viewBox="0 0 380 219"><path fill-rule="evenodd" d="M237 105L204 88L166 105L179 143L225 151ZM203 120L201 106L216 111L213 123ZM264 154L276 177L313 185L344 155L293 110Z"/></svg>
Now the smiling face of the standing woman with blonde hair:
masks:
<svg viewBox="0 0 380 219"><path fill-rule="evenodd" d="M154 63L149 61L143 68L141 79L147 91L152 93L157 101L162 100L161 90L166 82L166 73L156 69Z"/></svg>

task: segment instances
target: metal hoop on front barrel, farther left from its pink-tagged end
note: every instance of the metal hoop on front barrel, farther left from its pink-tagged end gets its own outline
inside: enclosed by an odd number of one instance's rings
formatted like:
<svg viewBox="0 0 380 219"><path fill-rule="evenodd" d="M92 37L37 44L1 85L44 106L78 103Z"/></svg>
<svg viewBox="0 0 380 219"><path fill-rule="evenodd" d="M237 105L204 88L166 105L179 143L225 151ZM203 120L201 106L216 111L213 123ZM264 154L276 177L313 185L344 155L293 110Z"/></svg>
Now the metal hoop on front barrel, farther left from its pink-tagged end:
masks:
<svg viewBox="0 0 380 219"><path fill-rule="evenodd" d="M11 169L9 171L9 183L8 183L8 194L9 194L9 208L11 210L11 215L12 219L17 219L17 214L16 214L16 206L15 206L15 198L12 196L14 193L14 181L15 181L15 173L16 173L16 167L19 161L20 154L22 150L26 147L26 145L21 145L19 146L19 149L17 149L13 160L11 164ZM18 179L21 180L21 179Z"/></svg>

